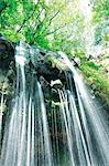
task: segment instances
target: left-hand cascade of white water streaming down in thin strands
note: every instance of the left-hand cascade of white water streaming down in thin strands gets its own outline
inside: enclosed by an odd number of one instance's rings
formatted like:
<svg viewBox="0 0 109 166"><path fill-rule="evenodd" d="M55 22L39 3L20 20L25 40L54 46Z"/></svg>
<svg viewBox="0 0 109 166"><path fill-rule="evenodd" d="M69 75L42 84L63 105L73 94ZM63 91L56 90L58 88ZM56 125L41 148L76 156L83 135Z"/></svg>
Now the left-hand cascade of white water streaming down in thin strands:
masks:
<svg viewBox="0 0 109 166"><path fill-rule="evenodd" d="M31 85L28 86L25 73L26 45L20 42L17 48L17 87L10 122L3 134L0 158L2 166L52 166L52 147L48 138L46 110L43 92L36 75L32 73ZM3 96L1 98L1 106ZM2 114L2 112L1 112ZM1 122L1 121L0 121ZM37 122L41 122L39 124ZM41 126L42 125L42 131ZM37 138L39 133L39 138ZM42 141L41 141L42 138ZM35 141L39 139L39 144ZM35 155L35 151L37 154ZM41 154L43 153L43 154ZM42 159L43 156L43 159Z"/></svg>

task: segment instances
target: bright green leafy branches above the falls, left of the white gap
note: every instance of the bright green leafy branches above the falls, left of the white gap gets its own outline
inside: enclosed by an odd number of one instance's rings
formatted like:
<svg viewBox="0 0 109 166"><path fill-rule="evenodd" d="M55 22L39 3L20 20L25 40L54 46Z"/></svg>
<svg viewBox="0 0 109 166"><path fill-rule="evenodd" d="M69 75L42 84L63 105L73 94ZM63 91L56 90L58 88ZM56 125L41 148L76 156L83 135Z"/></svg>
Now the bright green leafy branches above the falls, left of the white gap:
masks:
<svg viewBox="0 0 109 166"><path fill-rule="evenodd" d="M78 0L51 0L50 3L44 0L37 3L33 0L2 0L0 4L0 33L10 41L22 39L30 44L66 52L81 45L79 29L84 27ZM72 35L74 39L69 40Z"/></svg>

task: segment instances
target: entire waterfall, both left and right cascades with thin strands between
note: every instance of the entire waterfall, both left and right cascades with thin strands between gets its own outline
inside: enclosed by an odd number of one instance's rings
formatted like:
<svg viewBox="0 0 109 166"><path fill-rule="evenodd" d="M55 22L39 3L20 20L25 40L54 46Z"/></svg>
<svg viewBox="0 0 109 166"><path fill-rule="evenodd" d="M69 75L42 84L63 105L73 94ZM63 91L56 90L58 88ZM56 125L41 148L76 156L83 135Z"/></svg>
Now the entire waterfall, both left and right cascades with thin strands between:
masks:
<svg viewBox="0 0 109 166"><path fill-rule="evenodd" d="M0 137L0 166L108 166L108 125L80 75L58 52L70 72L65 72L67 85L56 89L57 105L52 101L46 108L42 85L29 66L30 61L35 64L34 53L23 42L17 46L15 90ZM2 94L0 136L3 103Z"/></svg>

